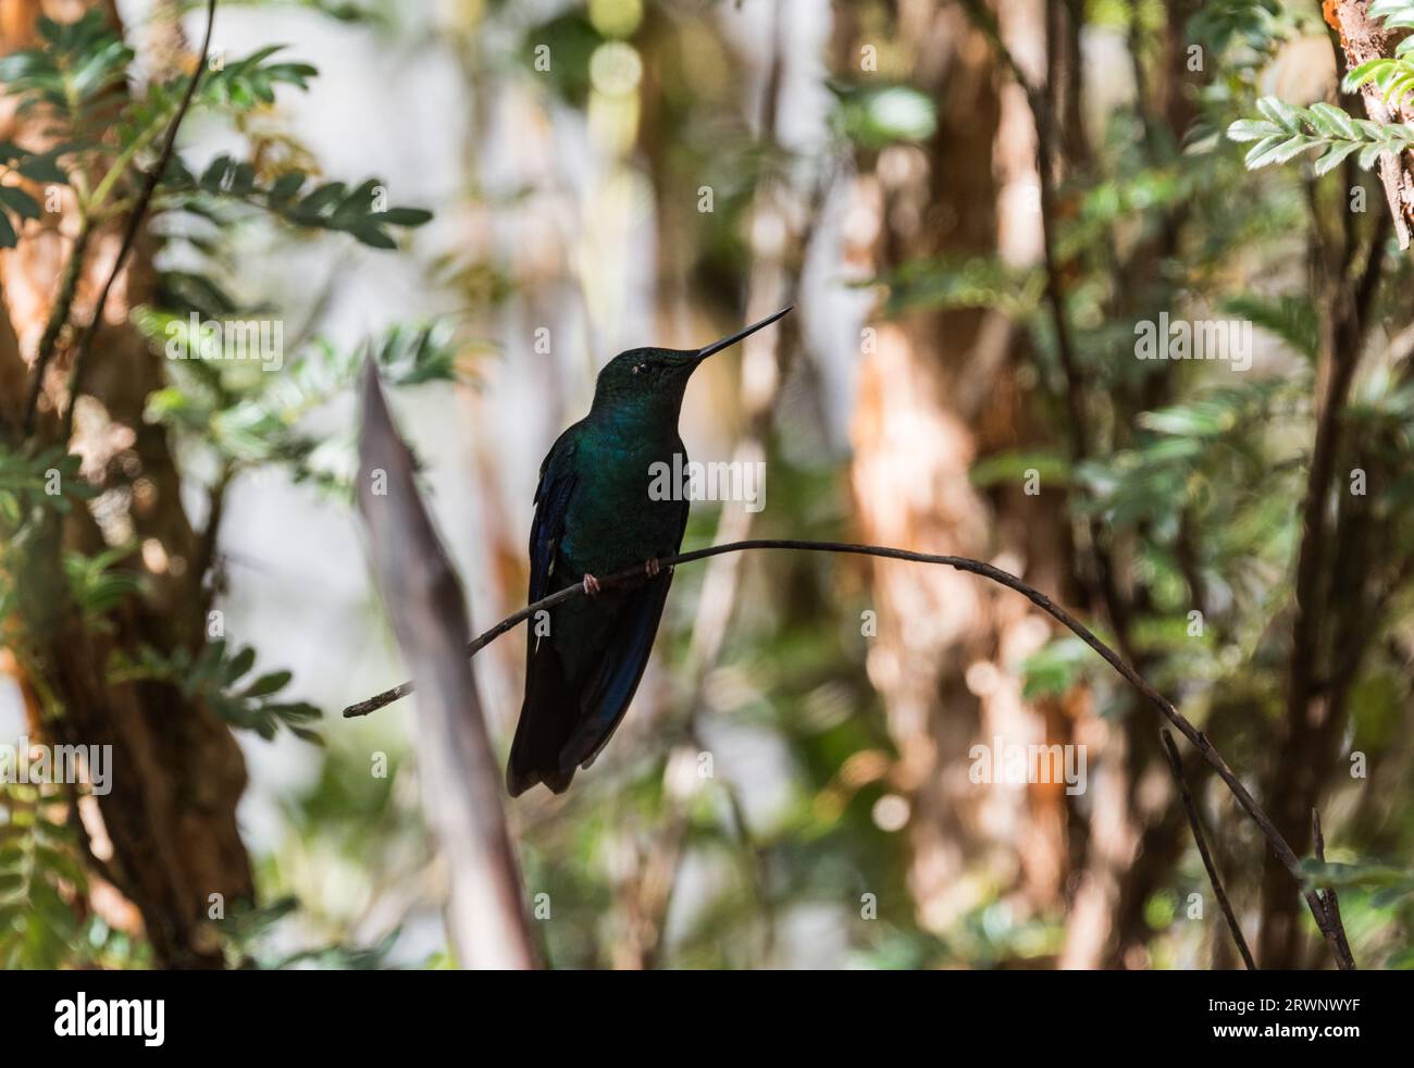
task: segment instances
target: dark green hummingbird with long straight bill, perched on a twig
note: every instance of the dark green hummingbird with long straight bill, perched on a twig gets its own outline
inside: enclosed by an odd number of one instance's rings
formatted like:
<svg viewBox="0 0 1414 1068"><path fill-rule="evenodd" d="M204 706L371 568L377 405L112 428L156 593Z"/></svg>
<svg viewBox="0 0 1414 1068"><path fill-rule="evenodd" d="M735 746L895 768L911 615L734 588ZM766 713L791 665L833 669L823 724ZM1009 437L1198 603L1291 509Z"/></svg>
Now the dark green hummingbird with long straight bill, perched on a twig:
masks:
<svg viewBox="0 0 1414 1068"><path fill-rule="evenodd" d="M655 499L656 464L687 464L677 416L687 379L708 356L769 327L790 308L699 349L632 348L604 365L590 413L540 464L530 523L533 604L570 586L584 597L529 621L526 690L506 789L543 782L563 794L624 719L663 615L674 556L687 529L686 499ZM662 470L662 468L656 468ZM670 494L669 497L679 497ZM608 588L595 576L643 564L643 581Z"/></svg>

